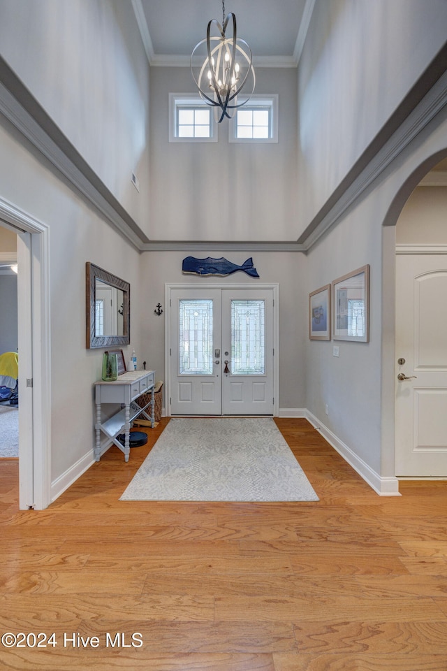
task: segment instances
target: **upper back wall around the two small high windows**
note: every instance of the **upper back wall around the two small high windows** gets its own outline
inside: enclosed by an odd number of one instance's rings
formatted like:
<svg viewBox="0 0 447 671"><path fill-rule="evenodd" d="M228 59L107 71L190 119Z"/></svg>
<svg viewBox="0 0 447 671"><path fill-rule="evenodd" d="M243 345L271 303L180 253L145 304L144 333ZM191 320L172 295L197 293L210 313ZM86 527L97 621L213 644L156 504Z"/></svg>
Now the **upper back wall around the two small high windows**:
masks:
<svg viewBox="0 0 447 671"><path fill-rule="evenodd" d="M279 94L278 143L169 143L168 96L193 92L187 68L151 68L149 236L296 240L296 70L256 69L256 94Z"/></svg>

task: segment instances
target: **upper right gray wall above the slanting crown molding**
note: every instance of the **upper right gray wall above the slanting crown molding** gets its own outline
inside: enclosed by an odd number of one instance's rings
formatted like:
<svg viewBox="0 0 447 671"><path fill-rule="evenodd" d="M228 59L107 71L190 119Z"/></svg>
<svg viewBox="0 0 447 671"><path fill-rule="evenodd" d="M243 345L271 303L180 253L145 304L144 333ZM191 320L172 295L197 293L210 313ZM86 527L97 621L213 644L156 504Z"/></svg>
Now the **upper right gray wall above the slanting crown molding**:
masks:
<svg viewBox="0 0 447 671"><path fill-rule="evenodd" d="M444 0L316 0L298 68L300 230L444 45L446 31Z"/></svg>

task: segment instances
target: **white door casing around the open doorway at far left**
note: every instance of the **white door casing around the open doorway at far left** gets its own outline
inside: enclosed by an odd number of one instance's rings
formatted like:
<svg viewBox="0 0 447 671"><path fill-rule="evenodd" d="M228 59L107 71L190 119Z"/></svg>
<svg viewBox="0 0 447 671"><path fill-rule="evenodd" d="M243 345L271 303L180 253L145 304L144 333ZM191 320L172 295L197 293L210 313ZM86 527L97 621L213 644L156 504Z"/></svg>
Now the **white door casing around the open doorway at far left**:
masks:
<svg viewBox="0 0 447 671"><path fill-rule="evenodd" d="M20 509L43 510L51 489L50 229L1 196L0 218L17 231L20 267Z"/></svg>

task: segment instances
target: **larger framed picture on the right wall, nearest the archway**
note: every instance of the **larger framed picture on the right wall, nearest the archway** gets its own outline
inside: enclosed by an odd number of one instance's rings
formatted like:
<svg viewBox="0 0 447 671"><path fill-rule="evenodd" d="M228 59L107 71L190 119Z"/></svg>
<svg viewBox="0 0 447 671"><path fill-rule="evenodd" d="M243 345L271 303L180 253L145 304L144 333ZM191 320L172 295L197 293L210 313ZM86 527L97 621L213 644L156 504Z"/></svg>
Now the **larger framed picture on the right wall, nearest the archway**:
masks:
<svg viewBox="0 0 447 671"><path fill-rule="evenodd" d="M369 266L332 282L334 340L369 342Z"/></svg>

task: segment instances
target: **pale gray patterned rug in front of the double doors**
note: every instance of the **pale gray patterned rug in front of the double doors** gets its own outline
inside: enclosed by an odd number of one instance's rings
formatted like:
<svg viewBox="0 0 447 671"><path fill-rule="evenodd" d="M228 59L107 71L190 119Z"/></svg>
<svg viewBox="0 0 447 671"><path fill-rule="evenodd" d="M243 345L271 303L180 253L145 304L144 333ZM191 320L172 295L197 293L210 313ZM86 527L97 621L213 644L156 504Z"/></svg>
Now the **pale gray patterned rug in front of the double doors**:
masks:
<svg viewBox="0 0 447 671"><path fill-rule="evenodd" d="M271 417L174 418L120 500L318 501Z"/></svg>

